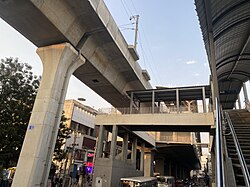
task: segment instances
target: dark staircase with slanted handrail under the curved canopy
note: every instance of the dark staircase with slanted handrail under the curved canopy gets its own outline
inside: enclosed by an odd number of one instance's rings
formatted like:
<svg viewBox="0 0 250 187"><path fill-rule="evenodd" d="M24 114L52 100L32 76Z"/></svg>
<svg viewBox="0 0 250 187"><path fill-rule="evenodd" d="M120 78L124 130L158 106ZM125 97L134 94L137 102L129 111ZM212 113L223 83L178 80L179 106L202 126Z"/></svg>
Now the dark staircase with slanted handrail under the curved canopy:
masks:
<svg viewBox="0 0 250 187"><path fill-rule="evenodd" d="M232 160L236 185L249 186L250 113L247 110L231 110L226 112L226 119L227 153Z"/></svg>

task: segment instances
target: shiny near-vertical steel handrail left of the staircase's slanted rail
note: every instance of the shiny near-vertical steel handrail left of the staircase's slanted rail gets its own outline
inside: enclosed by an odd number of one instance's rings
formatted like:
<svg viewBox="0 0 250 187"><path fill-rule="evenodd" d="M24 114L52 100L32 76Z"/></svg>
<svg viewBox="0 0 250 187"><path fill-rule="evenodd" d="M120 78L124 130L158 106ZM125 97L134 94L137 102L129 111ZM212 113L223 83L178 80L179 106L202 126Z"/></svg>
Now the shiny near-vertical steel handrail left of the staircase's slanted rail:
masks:
<svg viewBox="0 0 250 187"><path fill-rule="evenodd" d="M224 174L224 159L222 148L222 124L221 124L221 110L219 107L218 99L216 98L216 186L225 186Z"/></svg>

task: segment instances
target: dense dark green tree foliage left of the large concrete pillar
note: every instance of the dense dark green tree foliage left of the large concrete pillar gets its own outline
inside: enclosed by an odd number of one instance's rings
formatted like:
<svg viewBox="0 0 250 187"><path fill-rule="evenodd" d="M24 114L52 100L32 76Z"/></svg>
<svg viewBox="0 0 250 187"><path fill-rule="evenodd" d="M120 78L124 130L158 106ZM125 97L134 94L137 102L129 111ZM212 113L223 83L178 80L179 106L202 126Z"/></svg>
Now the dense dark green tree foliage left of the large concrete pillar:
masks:
<svg viewBox="0 0 250 187"><path fill-rule="evenodd" d="M7 167L19 157L40 78L18 59L0 62L0 160Z"/></svg>

